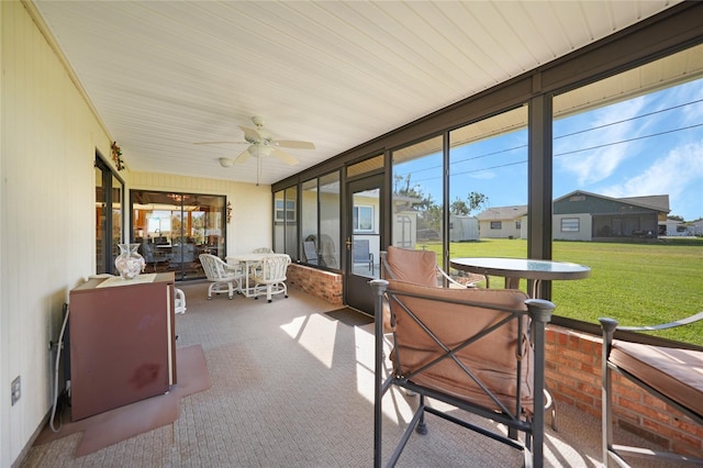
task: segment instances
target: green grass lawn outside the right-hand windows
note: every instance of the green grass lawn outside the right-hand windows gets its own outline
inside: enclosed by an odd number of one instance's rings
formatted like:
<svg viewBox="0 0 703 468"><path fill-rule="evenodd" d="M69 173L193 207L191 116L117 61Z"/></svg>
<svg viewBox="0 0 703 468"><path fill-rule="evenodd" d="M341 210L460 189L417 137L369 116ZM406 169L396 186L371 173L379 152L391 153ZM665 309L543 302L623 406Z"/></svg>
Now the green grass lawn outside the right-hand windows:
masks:
<svg viewBox="0 0 703 468"><path fill-rule="evenodd" d="M426 244L438 252L439 245ZM450 257L527 256L524 239L453 243ZM555 242L554 259L591 268L591 277L554 281L556 314L598 323L599 316L623 325L657 324L703 311L703 239L656 244ZM491 287L502 287L491 277ZM524 289L524 281L521 285ZM658 332L659 336L703 345L703 323Z"/></svg>

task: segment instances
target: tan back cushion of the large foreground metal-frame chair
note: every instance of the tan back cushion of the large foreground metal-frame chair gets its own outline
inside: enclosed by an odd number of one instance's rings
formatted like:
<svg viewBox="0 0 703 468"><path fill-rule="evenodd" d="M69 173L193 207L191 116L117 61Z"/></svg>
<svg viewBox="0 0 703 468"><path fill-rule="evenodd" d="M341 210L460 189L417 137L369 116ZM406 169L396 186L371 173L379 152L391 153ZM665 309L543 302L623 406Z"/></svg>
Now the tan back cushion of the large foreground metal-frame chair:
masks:
<svg viewBox="0 0 703 468"><path fill-rule="evenodd" d="M389 281L389 289L427 296L428 299L403 297L401 301L450 348L505 317L506 312L490 309L489 305L515 311L527 310L525 305L527 296L518 290L434 288L392 280ZM437 302L435 298L473 301L487 307ZM444 354L444 350L408 315L402 307L392 301L391 308L397 321L395 342L401 366L397 369L398 374L406 376ZM526 336L528 317L524 315L521 320L524 333L520 339L522 342L520 349L524 355L520 383L522 404L527 412L532 412L534 356ZM513 320L457 353L458 358L511 411L515 409L517 394L515 358L517 339L517 321ZM445 359L432 366L413 377L412 381L484 408L498 410L490 397L451 359Z"/></svg>

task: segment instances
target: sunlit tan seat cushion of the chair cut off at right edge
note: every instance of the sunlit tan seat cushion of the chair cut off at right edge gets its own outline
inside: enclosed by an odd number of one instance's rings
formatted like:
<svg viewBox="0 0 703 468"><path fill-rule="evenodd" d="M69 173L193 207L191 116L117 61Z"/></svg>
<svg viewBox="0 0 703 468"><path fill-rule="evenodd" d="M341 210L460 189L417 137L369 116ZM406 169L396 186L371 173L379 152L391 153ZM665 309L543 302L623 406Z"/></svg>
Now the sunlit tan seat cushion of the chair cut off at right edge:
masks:
<svg viewBox="0 0 703 468"><path fill-rule="evenodd" d="M703 415L703 352L615 341L610 360Z"/></svg>

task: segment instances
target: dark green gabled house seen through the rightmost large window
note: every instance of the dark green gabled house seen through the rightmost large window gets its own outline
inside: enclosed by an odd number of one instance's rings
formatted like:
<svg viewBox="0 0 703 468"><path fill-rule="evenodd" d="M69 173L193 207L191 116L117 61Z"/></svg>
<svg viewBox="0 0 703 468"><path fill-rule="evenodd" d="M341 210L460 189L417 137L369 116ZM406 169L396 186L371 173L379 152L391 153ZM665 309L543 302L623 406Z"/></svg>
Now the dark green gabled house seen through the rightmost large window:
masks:
<svg viewBox="0 0 703 468"><path fill-rule="evenodd" d="M562 241L656 238L669 196L611 198L577 190L554 201L553 237Z"/></svg>

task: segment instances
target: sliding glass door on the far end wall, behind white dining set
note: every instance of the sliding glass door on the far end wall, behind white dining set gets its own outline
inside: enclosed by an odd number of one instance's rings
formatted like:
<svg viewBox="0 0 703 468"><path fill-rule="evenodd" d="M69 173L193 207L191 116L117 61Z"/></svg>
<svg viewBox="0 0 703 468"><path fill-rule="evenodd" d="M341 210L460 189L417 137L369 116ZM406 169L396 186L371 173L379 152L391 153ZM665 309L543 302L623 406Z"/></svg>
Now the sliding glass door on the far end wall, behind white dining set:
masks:
<svg viewBox="0 0 703 468"><path fill-rule="evenodd" d="M146 271L204 278L200 254L225 258L225 197L132 190L132 237Z"/></svg>

